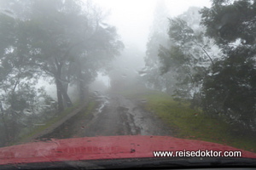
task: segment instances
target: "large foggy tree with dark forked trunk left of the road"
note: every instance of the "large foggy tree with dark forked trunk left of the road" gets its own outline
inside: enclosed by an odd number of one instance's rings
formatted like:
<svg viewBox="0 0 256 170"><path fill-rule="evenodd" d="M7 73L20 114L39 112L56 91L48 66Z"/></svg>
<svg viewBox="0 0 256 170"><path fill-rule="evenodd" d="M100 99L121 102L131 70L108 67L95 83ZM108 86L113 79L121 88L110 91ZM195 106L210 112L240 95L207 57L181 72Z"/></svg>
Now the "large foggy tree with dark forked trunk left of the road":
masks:
<svg viewBox="0 0 256 170"><path fill-rule="evenodd" d="M35 1L32 3L31 29L32 47L36 49L33 59L36 65L50 77L54 77L59 111L71 106L67 95L68 73L73 59L80 53L94 34L97 23L89 25L91 19L83 15L76 1ZM88 21L89 20L89 21ZM99 20L99 19L95 19ZM39 52L38 52L39 51Z"/></svg>

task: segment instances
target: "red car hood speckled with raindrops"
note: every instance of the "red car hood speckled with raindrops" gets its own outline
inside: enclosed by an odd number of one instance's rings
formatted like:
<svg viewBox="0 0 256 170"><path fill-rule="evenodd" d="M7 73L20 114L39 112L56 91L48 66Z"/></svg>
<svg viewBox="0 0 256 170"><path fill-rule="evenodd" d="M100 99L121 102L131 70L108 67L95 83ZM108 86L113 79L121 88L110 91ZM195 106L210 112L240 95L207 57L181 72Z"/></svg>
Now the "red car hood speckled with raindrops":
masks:
<svg viewBox="0 0 256 170"><path fill-rule="evenodd" d="M156 150L239 150L223 144L166 136L106 136L52 139L0 148L0 165L49 161L79 161L154 157ZM241 157L256 154L241 150Z"/></svg>

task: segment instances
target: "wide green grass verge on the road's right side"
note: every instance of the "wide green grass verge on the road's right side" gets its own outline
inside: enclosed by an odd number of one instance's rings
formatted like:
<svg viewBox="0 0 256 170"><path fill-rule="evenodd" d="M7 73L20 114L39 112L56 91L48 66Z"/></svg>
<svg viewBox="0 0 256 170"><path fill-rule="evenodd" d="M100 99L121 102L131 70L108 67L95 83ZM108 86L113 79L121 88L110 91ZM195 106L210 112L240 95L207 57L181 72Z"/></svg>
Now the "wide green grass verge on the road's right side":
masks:
<svg viewBox="0 0 256 170"><path fill-rule="evenodd" d="M150 90L143 93L130 91L127 94L133 99L146 99L147 102L143 104L145 110L154 112L170 126L174 137L204 140L256 152L255 137L237 129L234 133L230 124L191 109L188 102L178 102L170 95Z"/></svg>

